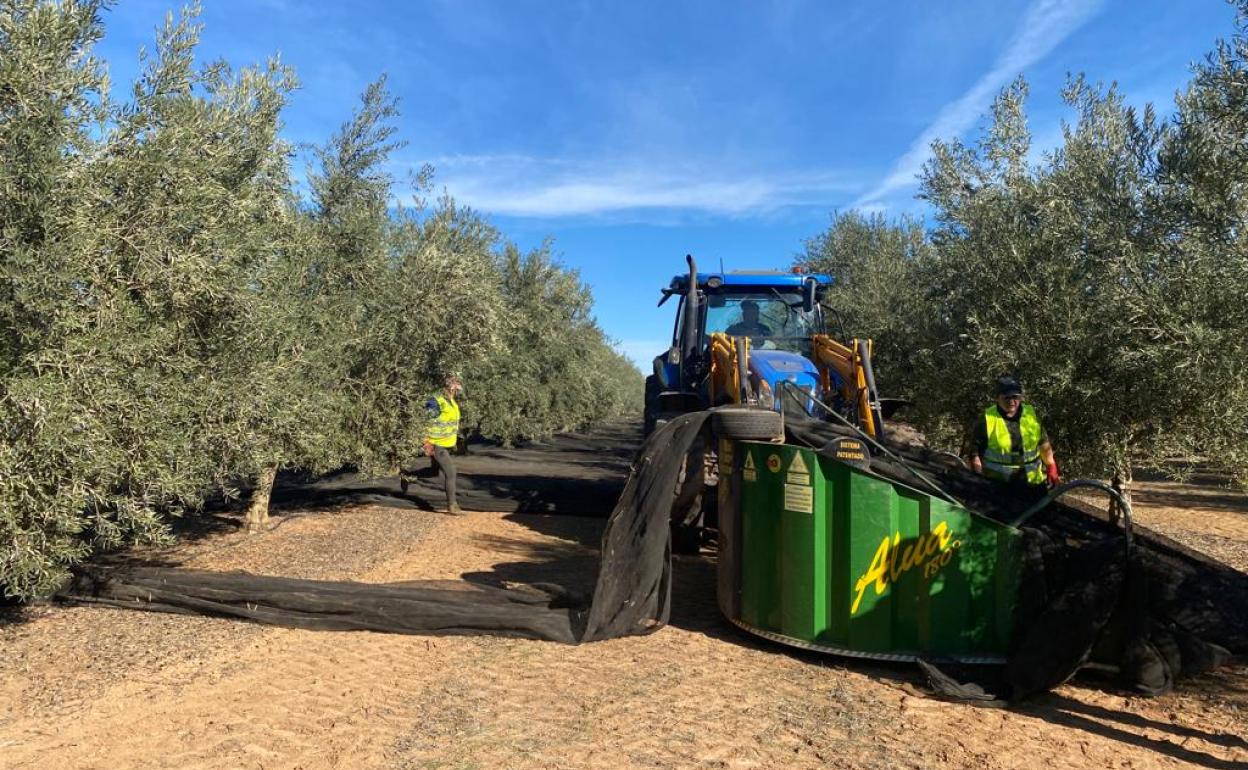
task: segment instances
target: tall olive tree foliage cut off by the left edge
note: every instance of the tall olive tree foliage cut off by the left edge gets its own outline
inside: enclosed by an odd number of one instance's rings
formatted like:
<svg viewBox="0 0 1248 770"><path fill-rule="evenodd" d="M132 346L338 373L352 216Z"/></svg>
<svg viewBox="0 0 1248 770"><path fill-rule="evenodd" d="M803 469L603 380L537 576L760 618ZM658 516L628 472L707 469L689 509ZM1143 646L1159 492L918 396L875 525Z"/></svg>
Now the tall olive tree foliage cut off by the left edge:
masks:
<svg viewBox="0 0 1248 770"><path fill-rule="evenodd" d="M86 553L82 532L95 500L81 469L95 465L107 482L115 464L94 447L79 448L94 411L75 414L66 391L82 381L84 363L44 361L55 341L91 326L92 301L71 290L90 241L76 227L85 218L86 156L95 150L90 129L104 120L107 90L102 66L86 54L102 34L99 12L97 4L0 4L0 574L7 593L45 588L59 565ZM132 529L150 533L145 524L140 518Z"/></svg>

